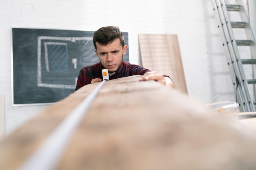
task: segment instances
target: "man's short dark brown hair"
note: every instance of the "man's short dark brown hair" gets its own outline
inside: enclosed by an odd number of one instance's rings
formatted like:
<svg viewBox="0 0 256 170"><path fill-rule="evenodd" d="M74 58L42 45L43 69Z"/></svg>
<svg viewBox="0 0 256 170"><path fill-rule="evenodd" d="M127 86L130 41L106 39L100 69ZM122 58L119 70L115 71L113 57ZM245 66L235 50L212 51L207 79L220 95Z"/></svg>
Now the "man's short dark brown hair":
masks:
<svg viewBox="0 0 256 170"><path fill-rule="evenodd" d="M124 35L119 30L119 27L117 27L117 26L101 27L100 29L98 29L97 31L94 32L94 35L93 35L94 48L97 49L96 42L98 42L99 44L101 44L103 46L106 46L106 45L112 43L117 38L119 38L120 43L124 48Z"/></svg>

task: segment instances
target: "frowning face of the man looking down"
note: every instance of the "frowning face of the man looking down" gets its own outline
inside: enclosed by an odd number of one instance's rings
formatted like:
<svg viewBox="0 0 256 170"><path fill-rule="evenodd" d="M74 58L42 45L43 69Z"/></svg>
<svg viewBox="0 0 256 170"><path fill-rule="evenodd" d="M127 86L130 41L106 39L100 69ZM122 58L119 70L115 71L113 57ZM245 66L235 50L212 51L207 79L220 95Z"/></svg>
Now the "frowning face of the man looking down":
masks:
<svg viewBox="0 0 256 170"><path fill-rule="evenodd" d="M107 68L110 73L117 71L122 63L123 55L126 54L127 45L123 49L120 40L117 38L106 46L96 42L96 46L95 53L99 57L102 66Z"/></svg>

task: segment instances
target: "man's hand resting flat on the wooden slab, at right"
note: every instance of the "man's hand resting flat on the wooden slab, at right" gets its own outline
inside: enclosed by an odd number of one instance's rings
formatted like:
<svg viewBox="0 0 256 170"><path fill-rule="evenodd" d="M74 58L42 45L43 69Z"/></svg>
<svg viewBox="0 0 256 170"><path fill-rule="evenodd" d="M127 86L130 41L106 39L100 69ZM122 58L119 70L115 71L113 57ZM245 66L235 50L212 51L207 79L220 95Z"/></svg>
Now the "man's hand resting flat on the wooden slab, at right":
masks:
<svg viewBox="0 0 256 170"><path fill-rule="evenodd" d="M155 80L171 88L175 88L173 81L169 77L164 77L162 74L158 74L156 71L146 72L139 81Z"/></svg>

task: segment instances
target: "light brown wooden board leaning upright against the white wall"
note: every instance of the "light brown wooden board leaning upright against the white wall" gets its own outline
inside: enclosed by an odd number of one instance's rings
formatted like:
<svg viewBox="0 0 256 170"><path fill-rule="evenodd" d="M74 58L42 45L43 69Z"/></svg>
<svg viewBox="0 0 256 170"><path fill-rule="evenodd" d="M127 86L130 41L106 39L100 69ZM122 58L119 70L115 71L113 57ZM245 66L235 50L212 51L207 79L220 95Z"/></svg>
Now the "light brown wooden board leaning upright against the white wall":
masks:
<svg viewBox="0 0 256 170"><path fill-rule="evenodd" d="M139 34L142 65L169 75L177 90L187 93L180 46L175 34Z"/></svg>

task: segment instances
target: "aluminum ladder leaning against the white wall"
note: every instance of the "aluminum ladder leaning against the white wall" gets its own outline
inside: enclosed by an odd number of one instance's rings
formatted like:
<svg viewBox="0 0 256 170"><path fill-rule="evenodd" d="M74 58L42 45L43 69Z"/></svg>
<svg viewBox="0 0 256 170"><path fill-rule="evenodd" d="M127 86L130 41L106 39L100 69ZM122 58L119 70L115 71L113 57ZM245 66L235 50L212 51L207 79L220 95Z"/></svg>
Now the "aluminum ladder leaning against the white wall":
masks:
<svg viewBox="0 0 256 170"><path fill-rule="evenodd" d="M255 38L243 1L235 0L232 3L235 4L229 4L227 0L212 0L213 11L220 31L222 45L225 48L226 61L236 93L236 102L240 105L240 112L255 112L256 79L254 75L256 74L252 73L253 78L247 79L244 71L244 64L247 66L252 64L252 72L254 72L253 67L256 64ZM239 13L240 18L236 19L240 20L231 21L231 16L238 15L237 13ZM236 40L234 29L243 29L246 39ZM251 56L246 59L242 57L243 59L241 59L238 46L249 46ZM253 84L252 88L249 88L248 84Z"/></svg>

